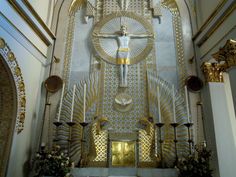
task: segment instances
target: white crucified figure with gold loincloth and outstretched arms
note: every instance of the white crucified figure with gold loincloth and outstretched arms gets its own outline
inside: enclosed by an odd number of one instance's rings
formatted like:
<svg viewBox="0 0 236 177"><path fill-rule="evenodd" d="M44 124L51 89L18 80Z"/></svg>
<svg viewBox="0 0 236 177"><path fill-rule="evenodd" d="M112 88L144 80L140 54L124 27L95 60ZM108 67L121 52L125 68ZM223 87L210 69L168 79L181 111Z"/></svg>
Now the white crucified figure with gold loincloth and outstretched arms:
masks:
<svg viewBox="0 0 236 177"><path fill-rule="evenodd" d="M93 34L96 37L116 38L118 42L117 64L120 65L120 87L127 87L128 65L130 65L130 48L131 38L148 38L154 37L153 34L128 34L127 27L122 25L119 34Z"/></svg>

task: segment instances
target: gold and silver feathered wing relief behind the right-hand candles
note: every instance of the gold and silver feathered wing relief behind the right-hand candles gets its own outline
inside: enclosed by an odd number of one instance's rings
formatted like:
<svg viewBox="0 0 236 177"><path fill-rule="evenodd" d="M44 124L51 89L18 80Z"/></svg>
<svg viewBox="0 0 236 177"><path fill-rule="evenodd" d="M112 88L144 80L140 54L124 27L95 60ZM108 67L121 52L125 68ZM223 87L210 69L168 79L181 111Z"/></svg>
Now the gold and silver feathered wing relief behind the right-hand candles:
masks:
<svg viewBox="0 0 236 177"><path fill-rule="evenodd" d="M173 123L173 91L172 85L160 77L153 71L148 71L148 98L149 98L149 111L150 115L157 118L157 122L160 121L158 112L158 95L157 87L159 87L160 93L160 111L161 111L161 122L165 125L162 127L161 138L164 140L162 144L163 161L168 167L172 167L175 160L175 148L174 148L174 131L173 127L170 126ZM188 155L188 132L187 128L183 125L188 122L187 108L185 101L180 92L174 91L175 95L175 110L176 110L176 121L180 124L177 127L177 148L178 156ZM157 162L160 162L160 143L159 131L156 129L155 136L155 156ZM144 132L141 134L144 136Z"/></svg>

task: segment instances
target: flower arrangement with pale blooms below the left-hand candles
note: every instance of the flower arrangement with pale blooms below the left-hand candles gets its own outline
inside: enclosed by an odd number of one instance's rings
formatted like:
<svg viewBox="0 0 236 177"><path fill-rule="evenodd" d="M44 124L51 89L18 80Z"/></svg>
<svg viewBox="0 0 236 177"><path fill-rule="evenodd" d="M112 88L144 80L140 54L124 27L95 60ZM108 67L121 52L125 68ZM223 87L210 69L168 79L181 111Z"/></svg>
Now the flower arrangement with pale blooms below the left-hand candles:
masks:
<svg viewBox="0 0 236 177"><path fill-rule="evenodd" d="M69 176L72 163L69 157L60 151L60 146L54 146L52 151L47 152L42 148L41 152L36 154L35 159L35 177L41 176L55 176L65 177Z"/></svg>

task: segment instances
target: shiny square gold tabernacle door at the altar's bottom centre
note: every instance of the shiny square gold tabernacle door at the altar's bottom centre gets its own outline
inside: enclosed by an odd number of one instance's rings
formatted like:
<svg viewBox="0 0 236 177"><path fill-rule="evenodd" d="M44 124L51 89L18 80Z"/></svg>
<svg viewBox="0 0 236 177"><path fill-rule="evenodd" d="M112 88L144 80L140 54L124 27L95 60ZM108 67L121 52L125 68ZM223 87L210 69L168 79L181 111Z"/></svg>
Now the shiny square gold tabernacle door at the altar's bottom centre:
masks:
<svg viewBox="0 0 236 177"><path fill-rule="evenodd" d="M125 141L112 142L112 166L114 167L135 166L135 142L125 142Z"/></svg>

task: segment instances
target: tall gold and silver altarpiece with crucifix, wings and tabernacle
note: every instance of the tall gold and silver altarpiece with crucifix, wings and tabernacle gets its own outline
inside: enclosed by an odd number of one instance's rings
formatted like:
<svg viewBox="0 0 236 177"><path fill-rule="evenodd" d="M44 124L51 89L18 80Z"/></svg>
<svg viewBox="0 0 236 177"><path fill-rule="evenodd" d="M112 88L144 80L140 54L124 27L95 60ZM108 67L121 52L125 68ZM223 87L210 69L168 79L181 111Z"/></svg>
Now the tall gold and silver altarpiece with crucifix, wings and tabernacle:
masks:
<svg viewBox="0 0 236 177"><path fill-rule="evenodd" d="M88 49L90 72L78 80L73 78L77 68L65 65L68 79L58 108L56 143L75 162L78 175L93 176L87 174L92 168L90 172L96 176L99 168L105 176L124 171L126 176L151 177L166 170L175 176L173 169L158 168L173 168L178 158L192 152L188 93L180 79L185 72L180 45L168 51L178 71L171 75L161 72L157 61L165 56L158 58L161 50L155 45L160 41L153 23L156 19L161 22L161 15L152 13L153 2L96 2L87 1L85 7L86 19L94 20L88 41L92 46ZM170 12L164 15L168 25L177 18ZM176 39L169 40L180 39L176 32ZM78 62L77 58L71 60ZM145 172L145 168L150 169Z"/></svg>

